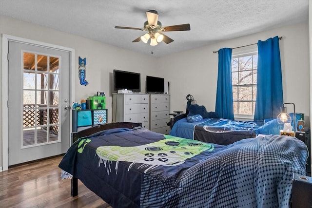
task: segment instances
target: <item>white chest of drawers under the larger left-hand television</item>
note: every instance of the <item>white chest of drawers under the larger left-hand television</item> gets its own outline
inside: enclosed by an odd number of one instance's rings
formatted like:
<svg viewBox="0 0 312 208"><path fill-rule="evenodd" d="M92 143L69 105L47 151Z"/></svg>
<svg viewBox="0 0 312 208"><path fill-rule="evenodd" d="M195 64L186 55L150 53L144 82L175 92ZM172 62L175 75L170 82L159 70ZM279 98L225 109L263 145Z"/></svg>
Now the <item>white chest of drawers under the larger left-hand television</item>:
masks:
<svg viewBox="0 0 312 208"><path fill-rule="evenodd" d="M113 122L142 123L149 129L149 94L113 94Z"/></svg>

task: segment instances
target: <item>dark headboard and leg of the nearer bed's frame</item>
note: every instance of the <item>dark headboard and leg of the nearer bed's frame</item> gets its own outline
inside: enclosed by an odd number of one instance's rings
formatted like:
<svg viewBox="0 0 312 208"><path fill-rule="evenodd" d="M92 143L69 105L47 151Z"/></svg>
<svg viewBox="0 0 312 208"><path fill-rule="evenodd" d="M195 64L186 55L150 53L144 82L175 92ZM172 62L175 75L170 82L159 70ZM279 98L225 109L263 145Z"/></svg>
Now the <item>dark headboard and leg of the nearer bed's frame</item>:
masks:
<svg viewBox="0 0 312 208"><path fill-rule="evenodd" d="M71 139L72 143L76 142L78 138L89 136L93 133L100 132L103 130L115 129L115 128L128 128L133 129L135 127L142 126L141 123L131 123L131 122L117 122L117 123L108 123L102 124L98 126L93 126L91 128L82 130L80 132L72 132ZM78 195L78 178L73 177L71 179L71 195L77 196Z"/></svg>

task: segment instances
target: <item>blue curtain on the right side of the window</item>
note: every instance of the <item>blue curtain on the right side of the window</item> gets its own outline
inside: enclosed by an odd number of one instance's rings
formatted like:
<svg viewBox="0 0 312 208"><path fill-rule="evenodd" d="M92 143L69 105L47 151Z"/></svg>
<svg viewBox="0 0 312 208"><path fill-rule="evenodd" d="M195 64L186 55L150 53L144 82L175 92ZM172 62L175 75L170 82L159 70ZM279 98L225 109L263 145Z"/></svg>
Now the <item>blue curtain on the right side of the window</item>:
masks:
<svg viewBox="0 0 312 208"><path fill-rule="evenodd" d="M257 96L254 120L274 118L283 105L278 37L258 41Z"/></svg>

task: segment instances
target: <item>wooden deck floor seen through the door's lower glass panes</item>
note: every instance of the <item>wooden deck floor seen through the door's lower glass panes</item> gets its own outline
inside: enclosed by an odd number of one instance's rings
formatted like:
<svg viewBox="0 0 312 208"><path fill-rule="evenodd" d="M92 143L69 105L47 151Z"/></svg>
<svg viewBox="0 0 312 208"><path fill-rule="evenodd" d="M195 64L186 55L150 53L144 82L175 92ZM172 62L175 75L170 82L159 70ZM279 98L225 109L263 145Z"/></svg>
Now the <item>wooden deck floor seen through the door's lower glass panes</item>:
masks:
<svg viewBox="0 0 312 208"><path fill-rule="evenodd" d="M50 133L50 141L57 141L58 135ZM42 144L48 141L47 131L44 129L37 130L37 143ZM24 130L23 131L23 146L35 144L35 130Z"/></svg>

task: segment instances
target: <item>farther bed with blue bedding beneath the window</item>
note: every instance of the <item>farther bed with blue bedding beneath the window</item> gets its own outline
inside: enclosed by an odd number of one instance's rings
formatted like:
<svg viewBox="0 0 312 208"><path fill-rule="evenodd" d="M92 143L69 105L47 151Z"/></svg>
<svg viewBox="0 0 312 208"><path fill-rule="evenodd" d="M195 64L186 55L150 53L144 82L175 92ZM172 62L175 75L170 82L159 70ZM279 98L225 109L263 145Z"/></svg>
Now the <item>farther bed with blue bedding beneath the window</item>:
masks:
<svg viewBox="0 0 312 208"><path fill-rule="evenodd" d="M190 98L191 97L191 98ZM238 121L220 118L215 112L207 112L204 106L193 103L187 95L186 113L176 115L170 122L170 135L229 145L258 134L279 134L276 118L261 121Z"/></svg>

